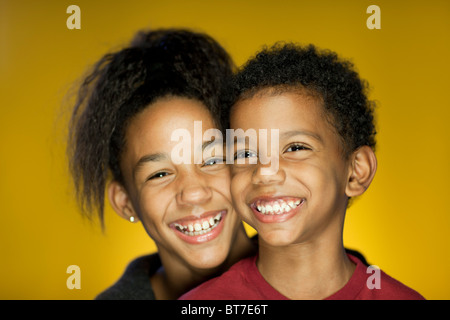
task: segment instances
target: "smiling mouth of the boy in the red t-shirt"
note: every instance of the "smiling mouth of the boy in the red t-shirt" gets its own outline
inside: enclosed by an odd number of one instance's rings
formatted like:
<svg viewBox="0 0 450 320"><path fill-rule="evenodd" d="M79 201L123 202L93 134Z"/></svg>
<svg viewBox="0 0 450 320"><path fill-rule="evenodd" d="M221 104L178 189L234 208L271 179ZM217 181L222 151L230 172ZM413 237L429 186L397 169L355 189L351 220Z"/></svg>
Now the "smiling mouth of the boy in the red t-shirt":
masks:
<svg viewBox="0 0 450 320"><path fill-rule="evenodd" d="M297 197L260 197L249 206L261 222L284 222L298 213L305 201L305 198Z"/></svg>

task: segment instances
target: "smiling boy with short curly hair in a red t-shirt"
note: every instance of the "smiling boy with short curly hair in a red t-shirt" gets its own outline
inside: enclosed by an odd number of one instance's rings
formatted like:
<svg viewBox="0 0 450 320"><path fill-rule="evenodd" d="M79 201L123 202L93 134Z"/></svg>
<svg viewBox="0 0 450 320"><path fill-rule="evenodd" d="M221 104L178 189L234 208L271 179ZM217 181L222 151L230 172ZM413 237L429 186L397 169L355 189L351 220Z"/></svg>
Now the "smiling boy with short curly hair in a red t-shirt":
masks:
<svg viewBox="0 0 450 320"><path fill-rule="evenodd" d="M182 299L423 299L379 270L374 286L377 271L343 247L349 201L377 168L373 104L352 64L312 45L275 45L226 96L231 128L278 130L278 141L238 139L234 149L232 197L258 231L259 254Z"/></svg>

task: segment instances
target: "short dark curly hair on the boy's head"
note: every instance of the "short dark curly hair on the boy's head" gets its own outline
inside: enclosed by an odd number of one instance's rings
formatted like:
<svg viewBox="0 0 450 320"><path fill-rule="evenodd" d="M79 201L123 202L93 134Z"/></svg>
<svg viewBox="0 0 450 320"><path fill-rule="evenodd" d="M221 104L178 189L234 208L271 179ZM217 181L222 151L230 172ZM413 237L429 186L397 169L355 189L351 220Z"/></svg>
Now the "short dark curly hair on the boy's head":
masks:
<svg viewBox="0 0 450 320"><path fill-rule="evenodd" d="M336 53L293 43L264 48L237 72L225 90L224 126L229 127L234 104L267 89L272 94L302 90L319 96L328 120L341 137L345 156L364 145L375 148L375 103L367 98L368 84L351 62Z"/></svg>

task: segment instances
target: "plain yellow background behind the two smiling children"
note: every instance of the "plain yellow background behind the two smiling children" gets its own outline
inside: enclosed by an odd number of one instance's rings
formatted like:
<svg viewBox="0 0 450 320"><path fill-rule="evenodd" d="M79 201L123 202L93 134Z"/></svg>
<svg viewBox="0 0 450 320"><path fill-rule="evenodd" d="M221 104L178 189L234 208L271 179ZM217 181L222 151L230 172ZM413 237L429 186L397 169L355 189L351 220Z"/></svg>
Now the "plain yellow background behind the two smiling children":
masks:
<svg viewBox="0 0 450 320"><path fill-rule="evenodd" d="M71 4L81 8L81 30L66 27ZM371 4L381 8L381 30L366 27ZM426 298L450 298L445 0L0 0L0 298L92 299L154 250L140 224L109 207L105 234L78 214L63 101L89 65L135 31L173 26L211 34L238 65L278 40L351 58L379 103L379 169L347 214L345 244ZM66 287L72 264L79 290Z"/></svg>

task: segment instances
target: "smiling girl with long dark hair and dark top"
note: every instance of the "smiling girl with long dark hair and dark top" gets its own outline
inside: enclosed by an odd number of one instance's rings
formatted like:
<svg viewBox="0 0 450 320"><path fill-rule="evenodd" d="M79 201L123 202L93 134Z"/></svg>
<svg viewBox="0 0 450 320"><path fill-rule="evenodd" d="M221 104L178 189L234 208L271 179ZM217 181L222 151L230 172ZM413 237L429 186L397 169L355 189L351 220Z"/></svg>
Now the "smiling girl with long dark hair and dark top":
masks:
<svg viewBox="0 0 450 320"><path fill-rule="evenodd" d="M97 299L176 299L254 253L231 203L220 142L194 139L193 151L214 148L209 158L171 157L174 130L193 134L194 121L202 136L221 129L218 95L232 69L211 37L156 30L105 55L82 83L68 140L79 203L103 226L106 189L113 209L140 221L158 248Z"/></svg>

